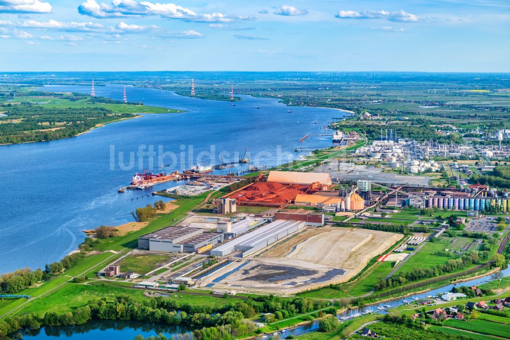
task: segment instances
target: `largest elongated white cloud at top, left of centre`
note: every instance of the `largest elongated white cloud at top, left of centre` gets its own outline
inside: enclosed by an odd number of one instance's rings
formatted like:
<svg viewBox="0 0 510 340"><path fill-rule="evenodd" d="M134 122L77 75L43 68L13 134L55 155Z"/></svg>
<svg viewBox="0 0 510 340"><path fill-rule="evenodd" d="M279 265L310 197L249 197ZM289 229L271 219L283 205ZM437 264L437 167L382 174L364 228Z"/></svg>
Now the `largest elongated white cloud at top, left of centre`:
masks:
<svg viewBox="0 0 510 340"><path fill-rule="evenodd" d="M171 3L161 4L148 1L137 3L134 0L112 0L110 5L99 4L96 0L86 0L78 7L78 12L96 18L158 15L164 18L200 22L231 22L253 19L252 17L231 16L222 13L198 14L188 8Z"/></svg>

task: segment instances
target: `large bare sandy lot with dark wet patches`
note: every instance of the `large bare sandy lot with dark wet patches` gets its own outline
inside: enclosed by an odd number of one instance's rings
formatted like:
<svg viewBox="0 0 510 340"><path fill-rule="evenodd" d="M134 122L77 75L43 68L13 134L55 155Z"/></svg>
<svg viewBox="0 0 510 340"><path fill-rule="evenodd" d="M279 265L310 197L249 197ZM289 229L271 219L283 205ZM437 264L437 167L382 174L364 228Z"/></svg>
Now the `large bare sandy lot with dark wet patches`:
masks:
<svg viewBox="0 0 510 340"><path fill-rule="evenodd" d="M215 289L287 295L341 283L402 235L352 228L303 229L246 261L233 263L200 282Z"/></svg>

